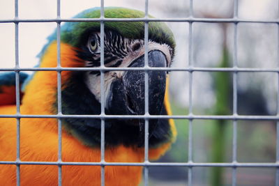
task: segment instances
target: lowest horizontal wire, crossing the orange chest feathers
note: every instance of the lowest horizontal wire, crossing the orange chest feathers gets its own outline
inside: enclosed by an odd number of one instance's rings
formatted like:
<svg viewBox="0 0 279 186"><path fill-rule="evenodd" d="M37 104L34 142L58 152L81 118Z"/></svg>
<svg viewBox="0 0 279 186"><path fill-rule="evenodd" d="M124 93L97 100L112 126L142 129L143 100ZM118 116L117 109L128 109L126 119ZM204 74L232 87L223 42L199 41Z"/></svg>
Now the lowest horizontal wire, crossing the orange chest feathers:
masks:
<svg viewBox="0 0 279 186"><path fill-rule="evenodd" d="M225 167L279 167L279 162L270 163L197 163L197 162L23 162L0 161L0 164L37 164L37 165L91 165L91 166L225 166Z"/></svg>

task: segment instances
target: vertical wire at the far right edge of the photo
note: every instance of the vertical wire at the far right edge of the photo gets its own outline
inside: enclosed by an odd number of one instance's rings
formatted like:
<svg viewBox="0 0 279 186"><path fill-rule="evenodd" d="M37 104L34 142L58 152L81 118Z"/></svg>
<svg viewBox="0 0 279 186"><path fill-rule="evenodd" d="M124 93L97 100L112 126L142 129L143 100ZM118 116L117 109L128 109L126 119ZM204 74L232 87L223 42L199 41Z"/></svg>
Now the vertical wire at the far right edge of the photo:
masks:
<svg viewBox="0 0 279 186"><path fill-rule="evenodd" d="M279 1L278 1L279 17ZM277 24L277 66L279 67L279 24ZM279 72L277 73L277 116L279 116ZM279 162L279 121L276 122L276 163ZM276 186L279 186L279 167L276 167Z"/></svg>

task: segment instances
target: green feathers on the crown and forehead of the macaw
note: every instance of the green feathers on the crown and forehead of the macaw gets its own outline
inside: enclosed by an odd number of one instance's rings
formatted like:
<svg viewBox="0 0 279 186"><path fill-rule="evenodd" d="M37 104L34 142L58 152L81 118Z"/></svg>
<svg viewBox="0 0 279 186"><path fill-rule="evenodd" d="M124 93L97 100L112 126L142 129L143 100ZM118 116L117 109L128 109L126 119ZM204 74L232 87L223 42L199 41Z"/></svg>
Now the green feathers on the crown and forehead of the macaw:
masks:
<svg viewBox="0 0 279 186"><path fill-rule="evenodd" d="M74 18L98 18L100 8L84 10ZM128 8L105 8L106 18L140 18L144 13ZM110 29L131 39L144 39L144 22L105 22L105 30ZM67 22L61 27L61 41L78 47L86 31L100 31L100 22ZM52 37L51 37L52 38ZM51 40L50 38L50 40ZM149 40L166 43L175 47L172 31L163 22L149 22Z"/></svg>

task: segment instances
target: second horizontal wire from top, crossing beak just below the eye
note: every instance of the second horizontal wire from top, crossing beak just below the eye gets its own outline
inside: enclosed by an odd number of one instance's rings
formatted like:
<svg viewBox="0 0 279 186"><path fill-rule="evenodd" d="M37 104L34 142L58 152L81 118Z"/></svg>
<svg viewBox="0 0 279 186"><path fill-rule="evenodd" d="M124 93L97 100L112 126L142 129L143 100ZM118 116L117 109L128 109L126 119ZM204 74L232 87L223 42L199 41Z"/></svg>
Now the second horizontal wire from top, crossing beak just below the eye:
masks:
<svg viewBox="0 0 279 186"><path fill-rule="evenodd" d="M187 72L279 72L279 68L0 68L0 71L187 71Z"/></svg>

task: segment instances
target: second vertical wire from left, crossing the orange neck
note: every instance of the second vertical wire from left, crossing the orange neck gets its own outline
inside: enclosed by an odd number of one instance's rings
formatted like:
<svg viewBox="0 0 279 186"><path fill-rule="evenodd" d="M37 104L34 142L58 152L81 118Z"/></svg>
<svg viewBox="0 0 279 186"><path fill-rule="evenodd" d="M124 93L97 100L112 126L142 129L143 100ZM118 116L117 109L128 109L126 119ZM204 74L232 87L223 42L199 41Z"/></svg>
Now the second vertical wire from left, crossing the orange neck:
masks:
<svg viewBox="0 0 279 186"><path fill-rule="evenodd" d="M57 19L60 19L60 10L61 10L60 0L57 0ZM56 42L57 42L57 69L61 68L61 22L56 22ZM61 70L57 70L57 114L62 115L61 111ZM62 151L62 123L61 118L58 118L58 162L61 160L61 151ZM62 185L62 167L61 164L58 164L58 185Z"/></svg>

